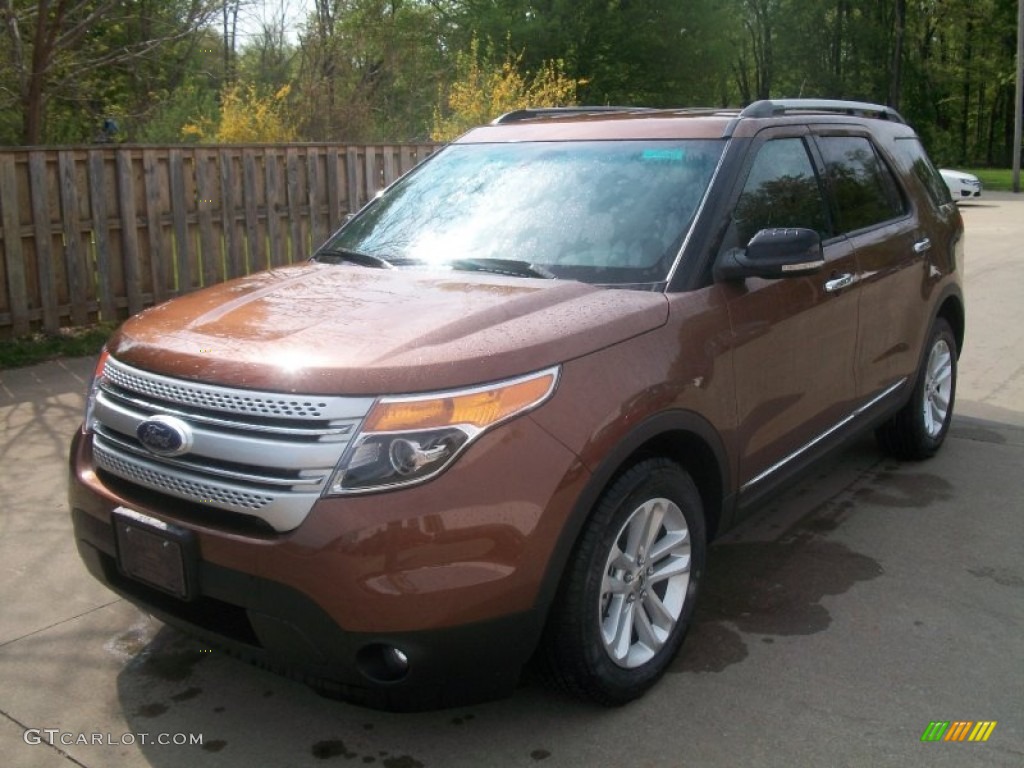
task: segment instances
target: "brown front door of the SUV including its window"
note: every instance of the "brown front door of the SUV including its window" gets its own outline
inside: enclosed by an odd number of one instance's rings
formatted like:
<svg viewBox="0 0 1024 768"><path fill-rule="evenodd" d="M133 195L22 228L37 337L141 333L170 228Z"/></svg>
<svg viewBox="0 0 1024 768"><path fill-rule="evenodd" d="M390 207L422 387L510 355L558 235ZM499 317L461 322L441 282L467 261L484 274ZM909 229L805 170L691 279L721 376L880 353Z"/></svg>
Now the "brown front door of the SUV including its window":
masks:
<svg viewBox="0 0 1024 768"><path fill-rule="evenodd" d="M767 132L766 132L767 133ZM767 489L827 436L857 398L857 263L835 236L820 168L803 135L767 133L732 210L722 249L761 229L821 236L825 266L809 276L725 283L736 381L738 478L744 496Z"/></svg>

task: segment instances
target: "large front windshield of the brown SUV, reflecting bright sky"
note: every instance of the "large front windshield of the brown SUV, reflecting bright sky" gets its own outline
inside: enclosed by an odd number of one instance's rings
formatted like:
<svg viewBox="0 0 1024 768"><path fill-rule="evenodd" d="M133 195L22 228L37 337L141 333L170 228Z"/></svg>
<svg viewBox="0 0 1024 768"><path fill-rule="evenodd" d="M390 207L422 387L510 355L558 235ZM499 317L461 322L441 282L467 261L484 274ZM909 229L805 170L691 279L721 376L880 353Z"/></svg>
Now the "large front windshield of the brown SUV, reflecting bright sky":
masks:
<svg viewBox="0 0 1024 768"><path fill-rule="evenodd" d="M718 140L453 144L374 201L314 258L659 283L723 146Z"/></svg>

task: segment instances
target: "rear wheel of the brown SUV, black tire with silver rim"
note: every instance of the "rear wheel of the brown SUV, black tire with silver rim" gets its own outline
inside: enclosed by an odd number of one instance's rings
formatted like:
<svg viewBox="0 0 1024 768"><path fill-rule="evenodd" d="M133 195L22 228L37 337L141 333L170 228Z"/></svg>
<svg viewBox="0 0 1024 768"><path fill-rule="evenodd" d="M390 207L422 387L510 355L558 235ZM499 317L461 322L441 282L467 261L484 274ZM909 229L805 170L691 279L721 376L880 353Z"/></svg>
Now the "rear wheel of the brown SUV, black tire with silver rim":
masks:
<svg viewBox="0 0 1024 768"><path fill-rule="evenodd" d="M897 459L928 459L945 440L956 396L956 337L939 317L932 326L910 400L876 431L882 449Z"/></svg>

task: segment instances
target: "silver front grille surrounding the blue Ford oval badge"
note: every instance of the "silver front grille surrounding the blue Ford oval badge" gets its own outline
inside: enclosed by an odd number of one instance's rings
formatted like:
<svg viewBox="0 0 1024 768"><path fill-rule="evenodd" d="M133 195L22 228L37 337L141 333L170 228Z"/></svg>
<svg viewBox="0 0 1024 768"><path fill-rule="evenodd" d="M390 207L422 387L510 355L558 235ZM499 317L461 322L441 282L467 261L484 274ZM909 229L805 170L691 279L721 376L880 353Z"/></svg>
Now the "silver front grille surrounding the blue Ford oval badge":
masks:
<svg viewBox="0 0 1024 768"><path fill-rule="evenodd" d="M90 425L93 461L150 490L291 530L319 498L372 404L369 397L207 385L108 357ZM187 453L168 458L142 444L138 427L156 416L187 425Z"/></svg>

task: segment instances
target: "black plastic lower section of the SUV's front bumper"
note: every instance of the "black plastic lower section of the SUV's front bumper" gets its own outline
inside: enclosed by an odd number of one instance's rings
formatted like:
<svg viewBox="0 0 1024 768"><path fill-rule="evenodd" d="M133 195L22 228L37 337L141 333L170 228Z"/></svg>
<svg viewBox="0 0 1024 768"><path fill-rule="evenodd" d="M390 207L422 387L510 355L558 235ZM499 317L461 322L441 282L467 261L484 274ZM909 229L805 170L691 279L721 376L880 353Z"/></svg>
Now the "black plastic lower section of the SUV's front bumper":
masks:
<svg viewBox="0 0 1024 768"><path fill-rule="evenodd" d="M312 600L275 582L213 563L201 596L183 602L117 567L111 525L72 511L78 551L96 579L162 622L219 650L366 707L417 711L510 695L543 628L537 611L433 631L345 632ZM400 648L409 672L388 680L385 648Z"/></svg>

